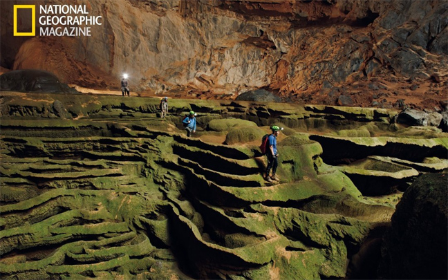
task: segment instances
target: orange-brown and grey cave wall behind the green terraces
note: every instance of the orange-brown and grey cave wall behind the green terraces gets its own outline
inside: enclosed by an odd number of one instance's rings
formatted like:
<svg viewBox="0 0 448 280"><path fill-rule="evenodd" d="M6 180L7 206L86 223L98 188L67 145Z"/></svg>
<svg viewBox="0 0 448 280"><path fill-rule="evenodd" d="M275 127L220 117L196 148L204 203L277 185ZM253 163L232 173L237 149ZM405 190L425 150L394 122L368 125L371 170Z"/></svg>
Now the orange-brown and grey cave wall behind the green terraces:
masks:
<svg viewBox="0 0 448 280"><path fill-rule="evenodd" d="M31 39L8 33L15 2L1 2L1 66L69 84L116 89L126 72L140 95L267 88L288 102L431 110L447 99L446 1L89 1L102 16L91 37Z"/></svg>

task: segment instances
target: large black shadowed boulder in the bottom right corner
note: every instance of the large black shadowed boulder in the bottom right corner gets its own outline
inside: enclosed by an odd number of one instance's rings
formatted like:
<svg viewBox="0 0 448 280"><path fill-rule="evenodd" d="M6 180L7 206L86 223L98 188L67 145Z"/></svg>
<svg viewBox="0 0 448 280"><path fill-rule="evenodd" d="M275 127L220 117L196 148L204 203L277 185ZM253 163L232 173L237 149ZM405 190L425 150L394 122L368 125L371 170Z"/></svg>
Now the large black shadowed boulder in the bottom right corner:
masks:
<svg viewBox="0 0 448 280"><path fill-rule="evenodd" d="M447 279L447 174L424 174L402 197L382 244L380 279Z"/></svg>

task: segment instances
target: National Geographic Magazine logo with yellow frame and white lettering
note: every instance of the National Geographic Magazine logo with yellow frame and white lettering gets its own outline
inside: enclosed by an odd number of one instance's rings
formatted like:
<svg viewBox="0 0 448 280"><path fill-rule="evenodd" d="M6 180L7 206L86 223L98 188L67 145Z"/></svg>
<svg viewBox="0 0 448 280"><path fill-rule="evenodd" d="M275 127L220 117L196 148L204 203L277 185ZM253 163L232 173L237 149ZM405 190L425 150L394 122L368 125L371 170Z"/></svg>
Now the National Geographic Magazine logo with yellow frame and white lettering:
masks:
<svg viewBox="0 0 448 280"><path fill-rule="evenodd" d="M17 10L31 10L31 31L18 32ZM85 5L39 5L40 36L91 36L91 26L101 26L102 16L88 15ZM36 35L36 5L14 5L14 36Z"/></svg>

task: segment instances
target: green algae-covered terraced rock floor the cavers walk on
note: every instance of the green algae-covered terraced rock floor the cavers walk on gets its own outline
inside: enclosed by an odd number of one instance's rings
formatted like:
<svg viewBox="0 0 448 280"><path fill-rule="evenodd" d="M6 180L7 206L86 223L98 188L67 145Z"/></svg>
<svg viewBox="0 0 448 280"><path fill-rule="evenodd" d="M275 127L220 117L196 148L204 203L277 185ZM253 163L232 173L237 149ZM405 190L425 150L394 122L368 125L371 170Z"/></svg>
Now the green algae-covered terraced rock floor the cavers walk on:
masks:
<svg viewBox="0 0 448 280"><path fill-rule="evenodd" d="M355 277L348 264L380 261L366 252L380 248L396 185L448 166L447 133L398 127L385 109L172 99L162 120L158 98L61 96L1 93L5 279ZM270 124L286 127L277 183L261 176L260 139L231 134ZM364 192L337 162L397 184Z"/></svg>

